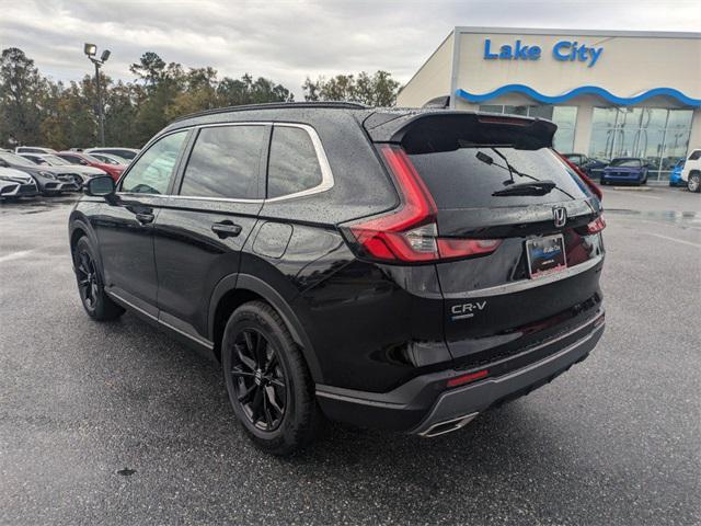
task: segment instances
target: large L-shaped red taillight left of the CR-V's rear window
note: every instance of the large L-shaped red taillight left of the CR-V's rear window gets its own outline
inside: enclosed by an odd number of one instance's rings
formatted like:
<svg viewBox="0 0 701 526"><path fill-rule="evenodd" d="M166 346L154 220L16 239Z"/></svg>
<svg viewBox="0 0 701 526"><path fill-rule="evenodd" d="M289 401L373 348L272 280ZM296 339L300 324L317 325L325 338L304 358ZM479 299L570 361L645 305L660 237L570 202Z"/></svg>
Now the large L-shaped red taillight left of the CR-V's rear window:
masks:
<svg viewBox="0 0 701 526"><path fill-rule="evenodd" d="M380 152L402 197L391 214L343 228L363 256L388 262L426 262L494 252L495 239L439 238L437 208L430 192L400 147L382 145Z"/></svg>

